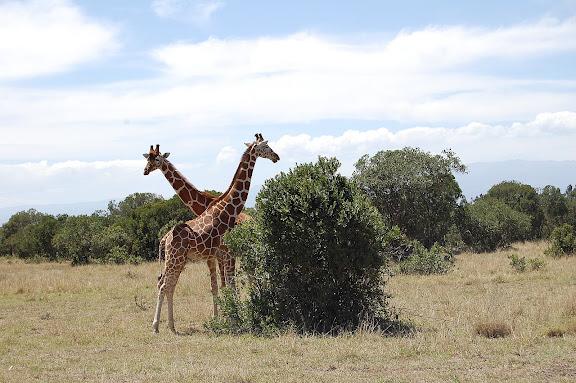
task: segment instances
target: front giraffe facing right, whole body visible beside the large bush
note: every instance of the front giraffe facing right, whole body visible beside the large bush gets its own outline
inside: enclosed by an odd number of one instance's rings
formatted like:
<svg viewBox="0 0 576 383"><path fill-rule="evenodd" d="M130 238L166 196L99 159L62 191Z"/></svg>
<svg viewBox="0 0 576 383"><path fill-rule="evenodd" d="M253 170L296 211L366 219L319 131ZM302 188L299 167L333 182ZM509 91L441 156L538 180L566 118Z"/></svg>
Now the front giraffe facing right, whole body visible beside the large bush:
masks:
<svg viewBox="0 0 576 383"><path fill-rule="evenodd" d="M168 233L165 245L164 270L158 281L158 299L152 327L158 332L160 312L164 297L168 304L168 327L174 328L173 298L178 277L188 260L198 262L205 260L208 268L216 269L216 256L222 243L224 233L236 223L236 219L246 203L254 165L258 157L268 158L276 163L280 157L269 146L261 134L256 140L246 144L236 173L224 194L216 198L198 217L174 226ZM218 285L212 282L212 294L217 294ZM216 298L216 295L213 295ZM217 315L214 299L214 315Z"/></svg>

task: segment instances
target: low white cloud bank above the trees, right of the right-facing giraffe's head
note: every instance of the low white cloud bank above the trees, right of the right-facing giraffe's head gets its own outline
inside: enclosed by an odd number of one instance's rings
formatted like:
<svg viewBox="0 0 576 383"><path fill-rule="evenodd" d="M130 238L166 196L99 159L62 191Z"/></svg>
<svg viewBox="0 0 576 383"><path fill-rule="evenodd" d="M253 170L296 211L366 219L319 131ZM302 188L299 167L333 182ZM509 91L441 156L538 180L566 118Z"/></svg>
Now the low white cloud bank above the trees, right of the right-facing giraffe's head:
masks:
<svg viewBox="0 0 576 383"><path fill-rule="evenodd" d="M467 162L510 159L576 160L576 113L542 113L529 122L490 125L472 122L458 128L413 127L392 132L386 128L341 135L284 135L271 147L289 162L318 155L356 160L365 153L405 146L440 152L452 148ZM345 164L346 165L346 164ZM348 168L351 163L348 163Z"/></svg>

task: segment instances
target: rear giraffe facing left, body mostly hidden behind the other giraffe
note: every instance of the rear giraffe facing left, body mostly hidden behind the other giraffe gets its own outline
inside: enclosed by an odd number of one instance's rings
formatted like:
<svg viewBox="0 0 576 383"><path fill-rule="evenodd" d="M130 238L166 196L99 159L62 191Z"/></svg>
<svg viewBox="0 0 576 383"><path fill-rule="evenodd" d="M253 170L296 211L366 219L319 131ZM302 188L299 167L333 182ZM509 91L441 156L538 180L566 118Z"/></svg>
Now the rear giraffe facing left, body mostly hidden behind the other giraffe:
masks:
<svg viewBox="0 0 576 383"><path fill-rule="evenodd" d="M160 153L160 145L156 144L156 149L150 145L150 151L144 153L143 156L147 160L146 166L144 168L144 175L152 173L156 169L160 171L166 177L166 180L174 191L190 211L192 211L196 216L199 216L206 210L208 205L216 198L215 196L202 192L198 190L186 177L176 169L176 167L168 160L170 153ZM236 222L242 223L250 219L250 216L245 213L240 213ZM160 240L159 244L159 259L164 259L164 248L166 243L166 237L168 233ZM234 274L236 269L236 261L234 257L230 255L230 252L224 244L220 246L220 255L217 257L218 266L220 269L220 284L222 287L226 286L228 283L232 288L234 288ZM210 279L217 278L216 275L210 275Z"/></svg>

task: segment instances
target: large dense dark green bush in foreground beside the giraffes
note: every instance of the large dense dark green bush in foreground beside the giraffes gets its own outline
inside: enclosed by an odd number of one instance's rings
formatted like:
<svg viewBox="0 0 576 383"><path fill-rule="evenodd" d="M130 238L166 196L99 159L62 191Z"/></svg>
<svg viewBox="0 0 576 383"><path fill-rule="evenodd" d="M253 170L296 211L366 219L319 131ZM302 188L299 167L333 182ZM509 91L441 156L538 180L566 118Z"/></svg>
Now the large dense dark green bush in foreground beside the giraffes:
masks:
<svg viewBox="0 0 576 383"><path fill-rule="evenodd" d="M336 159L320 158L266 181L252 222L225 241L249 281L254 331L389 325L385 225Z"/></svg>

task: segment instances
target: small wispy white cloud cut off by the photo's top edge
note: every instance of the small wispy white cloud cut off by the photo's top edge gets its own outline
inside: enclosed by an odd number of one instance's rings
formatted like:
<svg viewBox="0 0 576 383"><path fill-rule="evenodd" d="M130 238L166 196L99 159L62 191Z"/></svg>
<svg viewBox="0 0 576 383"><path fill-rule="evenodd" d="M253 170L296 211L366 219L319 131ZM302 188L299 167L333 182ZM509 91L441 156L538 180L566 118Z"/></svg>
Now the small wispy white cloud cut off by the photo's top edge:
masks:
<svg viewBox="0 0 576 383"><path fill-rule="evenodd" d="M206 24L212 15L224 7L217 0L153 0L152 10L160 17Z"/></svg>

